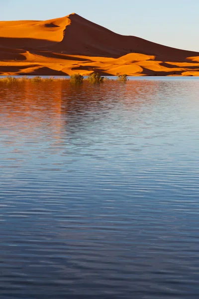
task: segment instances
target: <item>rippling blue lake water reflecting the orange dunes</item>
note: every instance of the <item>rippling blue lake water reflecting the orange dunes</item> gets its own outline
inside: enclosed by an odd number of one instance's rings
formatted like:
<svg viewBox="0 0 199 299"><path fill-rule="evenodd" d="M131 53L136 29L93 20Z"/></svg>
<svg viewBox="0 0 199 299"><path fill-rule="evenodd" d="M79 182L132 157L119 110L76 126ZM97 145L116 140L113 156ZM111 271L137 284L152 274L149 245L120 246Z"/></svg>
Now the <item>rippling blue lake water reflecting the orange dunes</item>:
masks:
<svg viewBox="0 0 199 299"><path fill-rule="evenodd" d="M1 298L199 298L199 80L0 83Z"/></svg>

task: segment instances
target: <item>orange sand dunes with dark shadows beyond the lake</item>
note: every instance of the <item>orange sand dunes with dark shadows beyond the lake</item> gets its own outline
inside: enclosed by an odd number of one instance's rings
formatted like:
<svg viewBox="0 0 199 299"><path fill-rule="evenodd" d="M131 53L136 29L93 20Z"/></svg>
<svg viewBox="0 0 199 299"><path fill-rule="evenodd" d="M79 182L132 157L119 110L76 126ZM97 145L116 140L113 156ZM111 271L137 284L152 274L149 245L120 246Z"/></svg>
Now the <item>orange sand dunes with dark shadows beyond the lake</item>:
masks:
<svg viewBox="0 0 199 299"><path fill-rule="evenodd" d="M0 22L0 75L199 76L199 52L114 33L76 13Z"/></svg>

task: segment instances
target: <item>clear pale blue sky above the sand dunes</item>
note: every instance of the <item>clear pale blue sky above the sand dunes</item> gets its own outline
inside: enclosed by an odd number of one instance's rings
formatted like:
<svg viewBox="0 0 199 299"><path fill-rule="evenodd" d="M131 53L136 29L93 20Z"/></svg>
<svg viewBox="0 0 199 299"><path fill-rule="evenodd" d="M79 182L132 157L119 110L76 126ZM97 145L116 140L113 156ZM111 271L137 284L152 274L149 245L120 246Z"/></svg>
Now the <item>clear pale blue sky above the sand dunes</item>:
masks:
<svg viewBox="0 0 199 299"><path fill-rule="evenodd" d="M1 0L0 20L76 12L114 32L199 51L199 0Z"/></svg>

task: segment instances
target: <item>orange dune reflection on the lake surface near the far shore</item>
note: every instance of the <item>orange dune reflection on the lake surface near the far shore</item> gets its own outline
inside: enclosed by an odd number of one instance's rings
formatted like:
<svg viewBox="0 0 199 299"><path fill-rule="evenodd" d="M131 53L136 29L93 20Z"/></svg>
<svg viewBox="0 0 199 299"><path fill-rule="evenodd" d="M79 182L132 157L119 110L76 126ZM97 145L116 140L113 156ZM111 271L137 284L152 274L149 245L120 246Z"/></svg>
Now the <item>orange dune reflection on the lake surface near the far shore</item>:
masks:
<svg viewBox="0 0 199 299"><path fill-rule="evenodd" d="M0 127L9 130L6 142L23 142L35 136L61 142L67 122L88 126L95 117L105 121L119 105L139 109L153 102L162 87L158 81L107 81L103 84L71 85L70 81L0 83ZM144 95L144 96L143 96ZM119 103L119 104L118 104Z"/></svg>

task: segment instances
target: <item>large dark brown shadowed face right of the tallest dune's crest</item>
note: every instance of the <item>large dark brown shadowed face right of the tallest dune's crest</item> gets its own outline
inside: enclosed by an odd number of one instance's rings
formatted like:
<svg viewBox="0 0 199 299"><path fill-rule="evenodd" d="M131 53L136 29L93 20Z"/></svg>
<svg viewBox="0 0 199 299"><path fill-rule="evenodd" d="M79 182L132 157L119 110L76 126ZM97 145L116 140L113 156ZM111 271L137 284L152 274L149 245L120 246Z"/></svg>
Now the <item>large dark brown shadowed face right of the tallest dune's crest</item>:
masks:
<svg viewBox="0 0 199 299"><path fill-rule="evenodd" d="M155 60L185 61L199 53L160 45L136 36L114 33L78 14L70 15L71 25L66 26L61 42L50 46L72 55L104 56L118 58L128 53L155 55ZM70 41L70 42L69 42Z"/></svg>

